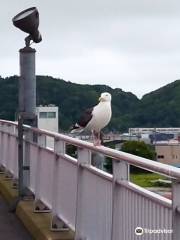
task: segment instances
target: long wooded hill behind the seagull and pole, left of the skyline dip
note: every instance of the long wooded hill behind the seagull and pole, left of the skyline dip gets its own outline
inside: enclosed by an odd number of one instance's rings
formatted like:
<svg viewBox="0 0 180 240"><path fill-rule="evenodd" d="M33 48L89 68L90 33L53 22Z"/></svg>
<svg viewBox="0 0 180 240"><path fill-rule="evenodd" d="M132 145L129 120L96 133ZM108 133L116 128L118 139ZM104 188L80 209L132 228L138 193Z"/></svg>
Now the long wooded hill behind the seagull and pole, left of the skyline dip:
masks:
<svg viewBox="0 0 180 240"><path fill-rule="evenodd" d="M124 130L131 126L131 112L139 99L132 93L121 89L112 89L106 85L81 85L55 79L49 76L37 76L37 105L55 104L59 107L60 128L63 130L78 120L82 111L97 104L100 93L112 94L113 118L109 130ZM18 110L18 77L0 78L0 118L14 120Z"/></svg>

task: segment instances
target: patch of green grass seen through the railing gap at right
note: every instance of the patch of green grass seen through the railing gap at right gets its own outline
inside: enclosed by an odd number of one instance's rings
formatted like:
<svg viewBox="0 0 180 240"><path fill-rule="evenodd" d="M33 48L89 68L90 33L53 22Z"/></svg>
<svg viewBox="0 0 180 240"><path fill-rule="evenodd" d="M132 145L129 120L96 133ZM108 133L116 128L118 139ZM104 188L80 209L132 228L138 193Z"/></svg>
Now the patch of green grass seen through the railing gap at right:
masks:
<svg viewBox="0 0 180 240"><path fill-rule="evenodd" d="M151 182L151 180L167 179L165 176L157 173L132 173L130 174L130 181L141 187L162 187L162 184Z"/></svg>

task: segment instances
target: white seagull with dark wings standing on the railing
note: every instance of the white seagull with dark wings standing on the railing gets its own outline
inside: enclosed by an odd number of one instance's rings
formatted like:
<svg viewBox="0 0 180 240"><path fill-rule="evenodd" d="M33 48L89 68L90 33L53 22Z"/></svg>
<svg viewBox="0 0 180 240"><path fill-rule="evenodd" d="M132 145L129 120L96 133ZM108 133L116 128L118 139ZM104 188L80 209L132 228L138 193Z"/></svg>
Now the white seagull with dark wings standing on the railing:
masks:
<svg viewBox="0 0 180 240"><path fill-rule="evenodd" d="M111 116L111 94L103 92L99 103L85 110L79 121L71 128L71 133L91 132L94 145L101 145L101 129L108 125Z"/></svg>

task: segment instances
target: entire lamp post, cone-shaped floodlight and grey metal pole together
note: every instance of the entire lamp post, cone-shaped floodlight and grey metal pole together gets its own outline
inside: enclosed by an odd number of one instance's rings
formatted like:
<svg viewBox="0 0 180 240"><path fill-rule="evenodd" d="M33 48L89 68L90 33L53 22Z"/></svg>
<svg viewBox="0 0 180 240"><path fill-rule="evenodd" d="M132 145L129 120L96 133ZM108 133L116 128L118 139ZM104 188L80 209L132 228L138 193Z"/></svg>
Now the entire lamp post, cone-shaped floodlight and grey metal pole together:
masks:
<svg viewBox="0 0 180 240"><path fill-rule="evenodd" d="M20 30L28 33L25 38L25 47L19 50L20 78L19 78L19 109L18 109L18 169L19 169L19 197L26 195L29 185L30 164L29 145L23 149L23 124L37 126L36 117L36 75L35 52L30 47L31 42L39 43L42 40L38 31L39 12L36 7L28 8L13 19L13 24Z"/></svg>

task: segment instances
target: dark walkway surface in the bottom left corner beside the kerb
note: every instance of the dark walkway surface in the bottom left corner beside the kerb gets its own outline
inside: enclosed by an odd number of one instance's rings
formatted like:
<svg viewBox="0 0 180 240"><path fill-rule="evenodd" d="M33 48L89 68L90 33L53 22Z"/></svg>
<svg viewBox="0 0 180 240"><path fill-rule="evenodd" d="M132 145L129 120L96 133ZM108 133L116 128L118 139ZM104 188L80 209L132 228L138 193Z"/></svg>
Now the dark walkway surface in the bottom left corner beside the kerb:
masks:
<svg viewBox="0 0 180 240"><path fill-rule="evenodd" d="M22 223L14 213L9 212L8 205L0 195L0 238L6 240L32 240Z"/></svg>

